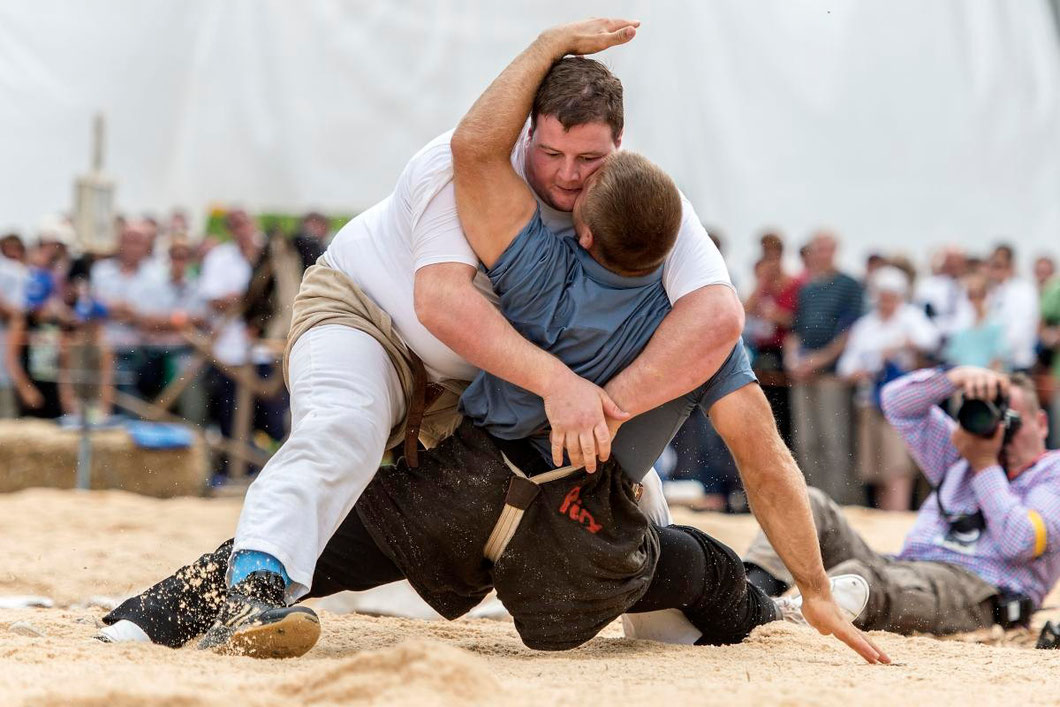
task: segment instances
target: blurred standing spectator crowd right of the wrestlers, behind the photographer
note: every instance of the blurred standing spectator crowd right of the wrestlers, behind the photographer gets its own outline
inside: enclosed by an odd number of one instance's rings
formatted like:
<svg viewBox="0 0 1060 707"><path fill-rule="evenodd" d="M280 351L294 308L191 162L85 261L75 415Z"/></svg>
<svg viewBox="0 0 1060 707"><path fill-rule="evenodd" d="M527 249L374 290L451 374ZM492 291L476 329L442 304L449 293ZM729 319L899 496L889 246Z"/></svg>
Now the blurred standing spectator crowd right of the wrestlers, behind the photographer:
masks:
<svg viewBox="0 0 1060 707"><path fill-rule="evenodd" d="M913 458L881 412L880 390L926 366L1030 375L1048 408L1048 445L1060 443L1060 277L1053 257L1038 257L1024 277L1007 244L986 257L943 248L924 273L905 257L873 253L856 277L836 265L838 241L829 232L799 250L799 272L785 270L778 234L765 233L760 245L744 300L744 343L810 485L841 503L886 510L908 510L924 495ZM707 454L714 448L709 441L676 448L677 469L697 470L708 495L734 474L727 460Z"/></svg>

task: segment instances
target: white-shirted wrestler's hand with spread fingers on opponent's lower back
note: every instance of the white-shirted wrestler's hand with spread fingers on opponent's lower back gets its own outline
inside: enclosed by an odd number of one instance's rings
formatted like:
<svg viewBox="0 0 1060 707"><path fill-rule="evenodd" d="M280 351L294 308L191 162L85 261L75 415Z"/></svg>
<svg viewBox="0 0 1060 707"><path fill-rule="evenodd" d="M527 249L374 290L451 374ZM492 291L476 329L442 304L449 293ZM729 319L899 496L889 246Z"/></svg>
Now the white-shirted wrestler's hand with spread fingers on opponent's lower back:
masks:
<svg viewBox="0 0 1060 707"><path fill-rule="evenodd" d="M612 432L608 421L619 423L630 414L618 407L603 388L571 373L556 378L542 395L552 431L552 463L563 464L566 448L570 463L596 472L597 457L611 457ZM616 426L617 428L617 426Z"/></svg>

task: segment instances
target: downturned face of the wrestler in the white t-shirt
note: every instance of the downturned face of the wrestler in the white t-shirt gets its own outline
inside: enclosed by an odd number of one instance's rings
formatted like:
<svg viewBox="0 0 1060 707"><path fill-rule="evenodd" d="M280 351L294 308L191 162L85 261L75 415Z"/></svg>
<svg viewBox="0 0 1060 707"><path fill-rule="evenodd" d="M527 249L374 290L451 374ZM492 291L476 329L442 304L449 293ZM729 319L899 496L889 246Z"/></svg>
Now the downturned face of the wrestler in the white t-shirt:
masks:
<svg viewBox="0 0 1060 707"><path fill-rule="evenodd" d="M538 116L526 152L527 181L545 204L573 211L585 180L621 144L606 123L584 123L569 130L552 116Z"/></svg>

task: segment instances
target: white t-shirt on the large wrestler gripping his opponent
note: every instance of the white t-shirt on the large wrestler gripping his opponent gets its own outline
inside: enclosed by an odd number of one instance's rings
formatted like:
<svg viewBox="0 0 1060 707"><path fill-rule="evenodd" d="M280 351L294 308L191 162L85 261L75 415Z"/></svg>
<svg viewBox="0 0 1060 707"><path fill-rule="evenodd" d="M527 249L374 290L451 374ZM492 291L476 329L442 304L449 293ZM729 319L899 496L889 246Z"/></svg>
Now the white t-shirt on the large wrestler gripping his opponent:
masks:
<svg viewBox="0 0 1060 707"><path fill-rule="evenodd" d="M442 343L420 323L413 305L416 271L438 263L478 267L457 216L453 190L452 130L417 153L393 193L347 224L328 248L328 260L357 283L393 320L405 342L438 381L470 381L478 370ZM512 163L524 174L526 130L516 143ZM682 195L684 216L677 243L662 270L671 302L712 284L731 287L725 261L691 205ZM542 218L556 233L573 235L569 213L542 204ZM490 282L479 271L475 285L496 302Z"/></svg>

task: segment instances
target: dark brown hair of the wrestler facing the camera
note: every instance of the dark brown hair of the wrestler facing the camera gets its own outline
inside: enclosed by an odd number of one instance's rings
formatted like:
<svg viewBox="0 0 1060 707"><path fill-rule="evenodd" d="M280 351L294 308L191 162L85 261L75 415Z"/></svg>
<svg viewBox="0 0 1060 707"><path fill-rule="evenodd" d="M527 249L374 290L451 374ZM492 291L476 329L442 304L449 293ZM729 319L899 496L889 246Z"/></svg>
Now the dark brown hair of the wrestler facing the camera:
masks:
<svg viewBox="0 0 1060 707"><path fill-rule="evenodd" d="M606 123L611 136L622 135L622 82L607 67L584 56L567 56L549 69L537 87L530 111L530 126L537 116L552 116L563 129L585 123Z"/></svg>

